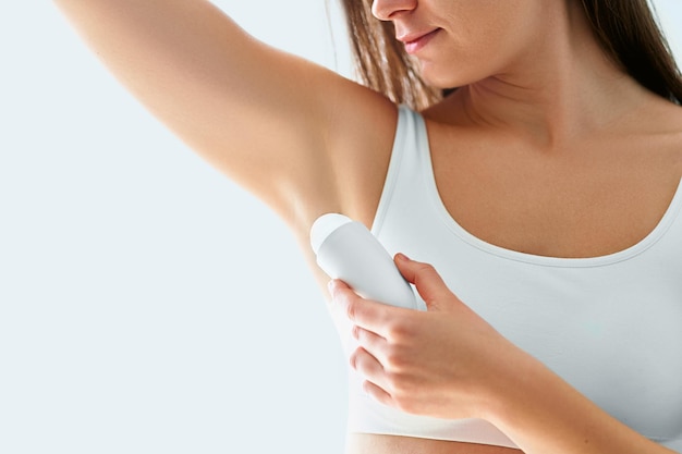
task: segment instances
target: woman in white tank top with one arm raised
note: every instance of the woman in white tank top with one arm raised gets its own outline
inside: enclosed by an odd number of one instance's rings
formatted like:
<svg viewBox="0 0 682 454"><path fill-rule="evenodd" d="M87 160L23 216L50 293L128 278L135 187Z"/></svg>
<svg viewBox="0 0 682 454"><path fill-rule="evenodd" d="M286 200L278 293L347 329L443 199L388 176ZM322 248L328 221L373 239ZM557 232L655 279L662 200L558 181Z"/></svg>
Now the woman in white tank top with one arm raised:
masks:
<svg viewBox="0 0 682 454"><path fill-rule="evenodd" d="M373 33L348 1L385 94L205 1L56 2L321 285L307 234L330 211L435 266L397 256L422 312L331 285L358 343L349 452L682 451L682 82L646 2L376 0Z"/></svg>

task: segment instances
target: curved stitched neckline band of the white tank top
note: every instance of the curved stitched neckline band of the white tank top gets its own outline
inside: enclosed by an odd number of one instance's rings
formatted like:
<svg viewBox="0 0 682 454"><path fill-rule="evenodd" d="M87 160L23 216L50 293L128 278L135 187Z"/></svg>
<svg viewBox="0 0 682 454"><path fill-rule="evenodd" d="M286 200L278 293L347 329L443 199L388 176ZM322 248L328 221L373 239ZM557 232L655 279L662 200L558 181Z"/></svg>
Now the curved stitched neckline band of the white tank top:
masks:
<svg viewBox="0 0 682 454"><path fill-rule="evenodd" d="M414 112L414 111L413 111ZM672 200L668 205L663 216L658 221L656 226L641 241L635 243L632 246L626 247L625 249L595 257L580 257L580 258L569 258L569 257L552 257L552 256L540 256L535 254L522 253L513 249L508 249L502 246L497 246L495 244L488 243L472 233L465 230L462 225L460 225L456 220L450 214L446 205L440 197L440 193L438 192L438 186L436 184L436 175L434 173L433 160L431 160L431 148L428 142L428 134L426 128L426 123L424 118L418 113L414 112L417 115L417 127L418 132L418 149L421 150L421 160L423 163L423 171L425 172L425 183L426 189L429 197L429 201L435 204L435 208L438 211L438 214L442 222L448 226L450 231L452 231L460 240L468 243L471 246L474 246L486 254L491 254L498 256L500 258L506 258L509 260L515 260L520 262L526 262L529 265L544 266L544 267L559 267L559 268L588 268L588 267L602 267L608 265L618 263L621 261L629 260L651 246L654 246L659 240L663 237L666 232L670 229L673 221L679 216L682 208L682 179L678 183L678 187L674 192Z"/></svg>

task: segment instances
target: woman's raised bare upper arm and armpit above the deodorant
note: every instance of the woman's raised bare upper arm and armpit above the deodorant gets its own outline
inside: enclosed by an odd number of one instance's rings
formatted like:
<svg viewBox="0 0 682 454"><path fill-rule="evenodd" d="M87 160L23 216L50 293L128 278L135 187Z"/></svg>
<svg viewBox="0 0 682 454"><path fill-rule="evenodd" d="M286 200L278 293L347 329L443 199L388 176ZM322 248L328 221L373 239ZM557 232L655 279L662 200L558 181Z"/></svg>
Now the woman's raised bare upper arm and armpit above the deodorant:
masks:
<svg viewBox="0 0 682 454"><path fill-rule="evenodd" d="M341 209L357 198L348 186L377 192L394 126L383 97L259 42L205 0L54 1L157 118L280 214Z"/></svg>

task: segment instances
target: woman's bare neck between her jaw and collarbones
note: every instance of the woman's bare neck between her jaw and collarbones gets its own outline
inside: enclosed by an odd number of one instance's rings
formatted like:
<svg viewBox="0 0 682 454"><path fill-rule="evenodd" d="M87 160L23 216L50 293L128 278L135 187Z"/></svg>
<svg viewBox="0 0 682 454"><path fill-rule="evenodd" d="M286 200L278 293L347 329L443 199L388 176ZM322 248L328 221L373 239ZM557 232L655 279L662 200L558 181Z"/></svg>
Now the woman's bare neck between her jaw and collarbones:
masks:
<svg viewBox="0 0 682 454"><path fill-rule="evenodd" d="M551 39L446 102L463 108L468 122L521 135L544 150L626 119L647 91L608 59L580 7L558 17L548 24Z"/></svg>

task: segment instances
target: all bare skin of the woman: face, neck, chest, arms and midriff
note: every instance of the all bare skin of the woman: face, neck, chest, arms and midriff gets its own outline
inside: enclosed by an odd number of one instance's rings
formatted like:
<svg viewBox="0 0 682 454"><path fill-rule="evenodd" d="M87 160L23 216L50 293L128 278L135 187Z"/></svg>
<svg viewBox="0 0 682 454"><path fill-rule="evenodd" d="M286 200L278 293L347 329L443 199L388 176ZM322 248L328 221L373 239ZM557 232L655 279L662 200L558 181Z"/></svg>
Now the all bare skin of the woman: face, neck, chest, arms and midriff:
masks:
<svg viewBox="0 0 682 454"><path fill-rule="evenodd" d="M208 1L53 1L151 112L281 216L326 287L309 226L330 211L372 224L395 106L258 42ZM415 53L422 74L463 87L423 114L441 198L472 234L527 254L595 257L655 228L682 177L682 109L605 58L576 0L375 0L373 11L398 37L437 30ZM331 287L332 309L357 327L352 365L379 401L484 417L529 454L670 452L502 339L428 265L397 263L428 311ZM348 452L517 451L351 434Z"/></svg>

